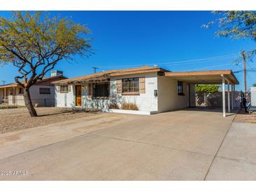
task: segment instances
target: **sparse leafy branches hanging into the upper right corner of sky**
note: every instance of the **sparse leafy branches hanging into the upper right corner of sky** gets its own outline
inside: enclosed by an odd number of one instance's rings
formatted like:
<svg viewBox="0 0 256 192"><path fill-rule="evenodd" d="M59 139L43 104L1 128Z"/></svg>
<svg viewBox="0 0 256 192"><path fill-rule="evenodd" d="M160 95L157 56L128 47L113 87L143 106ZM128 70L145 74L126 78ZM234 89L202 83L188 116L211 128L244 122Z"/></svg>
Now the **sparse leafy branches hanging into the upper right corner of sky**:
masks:
<svg viewBox="0 0 256 192"><path fill-rule="evenodd" d="M249 38L256 41L256 11L213 11L216 19L203 25L210 28L217 24L217 36L230 37L231 39ZM246 57L252 60L256 49L247 51ZM242 57L241 57L242 60Z"/></svg>

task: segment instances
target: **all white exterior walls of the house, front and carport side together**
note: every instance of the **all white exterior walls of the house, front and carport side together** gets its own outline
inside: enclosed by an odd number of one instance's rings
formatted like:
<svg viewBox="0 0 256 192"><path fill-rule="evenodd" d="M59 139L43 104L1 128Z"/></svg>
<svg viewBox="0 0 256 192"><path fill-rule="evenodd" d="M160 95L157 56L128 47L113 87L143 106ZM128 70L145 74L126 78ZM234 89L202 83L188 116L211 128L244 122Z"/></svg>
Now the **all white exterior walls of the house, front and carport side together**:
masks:
<svg viewBox="0 0 256 192"><path fill-rule="evenodd" d="M119 78L145 77L145 93L140 95L122 95L117 94L116 80ZM189 107L189 89L184 82L184 96L177 95L177 81L173 78L157 76L157 73L151 74L131 74L126 76L117 76L110 79L109 100L95 100L88 97L88 84L82 84L81 100L82 106L86 109L108 110L110 103L116 102L121 106L122 102L136 103L140 111L170 111ZM154 90L157 90L158 96L155 97ZM190 85L191 107L195 106L194 85ZM65 96L66 95L66 96ZM66 102L65 102L66 101ZM65 104L66 103L66 104ZM75 106L75 85L72 85L71 91L67 93L57 92L55 88L55 106L56 107L74 107Z"/></svg>

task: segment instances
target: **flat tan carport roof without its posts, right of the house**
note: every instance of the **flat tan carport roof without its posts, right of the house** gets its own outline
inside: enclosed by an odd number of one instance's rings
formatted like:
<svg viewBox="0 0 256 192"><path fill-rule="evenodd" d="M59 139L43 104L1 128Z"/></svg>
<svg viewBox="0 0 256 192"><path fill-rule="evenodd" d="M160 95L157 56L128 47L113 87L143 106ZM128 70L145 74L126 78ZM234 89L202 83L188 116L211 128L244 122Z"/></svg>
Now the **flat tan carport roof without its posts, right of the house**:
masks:
<svg viewBox="0 0 256 192"><path fill-rule="evenodd" d="M224 76L226 83L239 84L231 70L165 72L164 75L193 84L221 84Z"/></svg>

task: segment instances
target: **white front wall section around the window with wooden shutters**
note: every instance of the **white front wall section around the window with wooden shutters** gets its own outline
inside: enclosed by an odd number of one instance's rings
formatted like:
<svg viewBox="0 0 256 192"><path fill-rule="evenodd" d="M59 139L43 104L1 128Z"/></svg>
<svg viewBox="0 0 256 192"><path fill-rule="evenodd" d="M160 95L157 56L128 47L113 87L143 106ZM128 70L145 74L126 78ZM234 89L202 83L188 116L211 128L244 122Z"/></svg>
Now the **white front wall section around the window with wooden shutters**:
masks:
<svg viewBox="0 0 256 192"><path fill-rule="evenodd" d="M116 79L119 78L136 78L145 77L145 93L140 95L121 95L116 93ZM132 74L126 76L118 76L110 79L110 100L116 101L121 105L122 102L136 103L140 111L158 111L157 97L154 96L154 90L157 90L157 73L150 74Z"/></svg>

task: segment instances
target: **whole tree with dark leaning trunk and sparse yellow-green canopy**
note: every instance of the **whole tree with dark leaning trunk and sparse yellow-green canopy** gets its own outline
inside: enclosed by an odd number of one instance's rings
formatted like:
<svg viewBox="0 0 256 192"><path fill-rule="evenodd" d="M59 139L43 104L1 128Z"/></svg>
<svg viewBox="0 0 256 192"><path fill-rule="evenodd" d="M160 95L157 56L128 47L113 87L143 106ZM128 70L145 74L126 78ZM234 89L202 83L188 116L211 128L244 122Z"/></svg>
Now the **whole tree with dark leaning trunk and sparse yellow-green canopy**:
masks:
<svg viewBox="0 0 256 192"><path fill-rule="evenodd" d="M74 55L90 56L90 30L67 18L50 17L45 12L12 12L0 17L0 64L13 64L19 76L15 82L24 88L30 116L37 116L29 88L43 79L60 60Z"/></svg>

